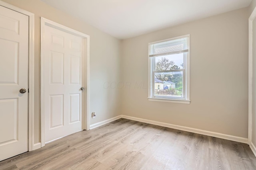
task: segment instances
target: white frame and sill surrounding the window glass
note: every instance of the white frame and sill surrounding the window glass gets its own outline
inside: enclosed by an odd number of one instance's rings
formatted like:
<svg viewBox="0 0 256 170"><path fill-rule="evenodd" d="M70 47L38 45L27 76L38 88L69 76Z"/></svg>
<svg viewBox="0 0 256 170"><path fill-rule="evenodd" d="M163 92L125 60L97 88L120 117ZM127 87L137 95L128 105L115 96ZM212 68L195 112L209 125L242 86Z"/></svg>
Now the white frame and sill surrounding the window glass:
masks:
<svg viewBox="0 0 256 170"><path fill-rule="evenodd" d="M176 96L154 96L154 63L155 57L150 57L150 45L155 43L161 43L165 41L172 41L176 39L186 38L188 37L188 52L178 52L183 53L183 62L184 68L180 70L171 70L171 72L182 71L183 72L183 97ZM157 101L157 102L172 102L172 103L183 103L190 104L190 35L183 35L180 37L174 37L171 39L165 39L162 41L156 41L152 43L148 43L148 100L149 101ZM161 72L161 71L159 71ZM165 72L165 71L163 71ZM170 71L169 71L170 72Z"/></svg>

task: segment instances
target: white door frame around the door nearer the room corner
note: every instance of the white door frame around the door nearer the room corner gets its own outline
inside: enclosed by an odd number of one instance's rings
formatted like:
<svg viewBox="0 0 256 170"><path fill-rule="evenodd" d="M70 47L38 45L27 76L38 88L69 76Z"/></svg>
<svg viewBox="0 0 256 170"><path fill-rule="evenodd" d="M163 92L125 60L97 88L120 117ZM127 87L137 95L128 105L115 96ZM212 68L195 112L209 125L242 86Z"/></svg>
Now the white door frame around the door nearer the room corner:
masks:
<svg viewBox="0 0 256 170"><path fill-rule="evenodd" d="M76 35L78 37L82 37L85 39L85 53L84 53L84 70L86 71L86 74L84 74L84 81L86 82L86 96L84 99L86 99L86 101L84 101L84 111L82 112L82 129L83 130L89 130L90 129L90 36L85 34L85 33L81 33L79 31L76 31L74 29L71 29L69 27L66 27L64 25L61 25L59 23L56 23L54 21L48 20L46 18L40 17L41 19L41 26L40 26L40 49L41 49L41 147L45 146L45 132L44 132L44 119L45 119L45 115L44 115L44 82L43 82L43 76L44 76L44 65L43 65L43 58L44 58L44 53L43 53L43 39L44 39L44 27L45 25L59 29L61 31L70 33L72 35Z"/></svg>

